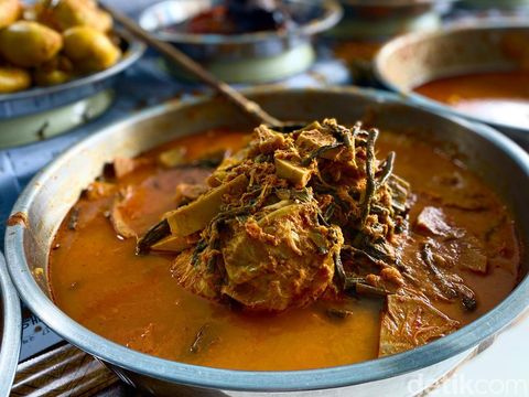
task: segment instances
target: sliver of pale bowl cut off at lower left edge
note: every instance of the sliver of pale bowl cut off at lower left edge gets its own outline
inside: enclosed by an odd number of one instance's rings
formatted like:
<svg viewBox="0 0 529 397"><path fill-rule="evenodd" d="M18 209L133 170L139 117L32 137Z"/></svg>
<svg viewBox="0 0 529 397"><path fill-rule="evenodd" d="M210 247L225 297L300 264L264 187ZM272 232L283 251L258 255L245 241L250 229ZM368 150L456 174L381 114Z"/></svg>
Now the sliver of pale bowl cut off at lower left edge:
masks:
<svg viewBox="0 0 529 397"><path fill-rule="evenodd" d="M22 316L20 301L0 253L0 397L8 397L19 364Z"/></svg>

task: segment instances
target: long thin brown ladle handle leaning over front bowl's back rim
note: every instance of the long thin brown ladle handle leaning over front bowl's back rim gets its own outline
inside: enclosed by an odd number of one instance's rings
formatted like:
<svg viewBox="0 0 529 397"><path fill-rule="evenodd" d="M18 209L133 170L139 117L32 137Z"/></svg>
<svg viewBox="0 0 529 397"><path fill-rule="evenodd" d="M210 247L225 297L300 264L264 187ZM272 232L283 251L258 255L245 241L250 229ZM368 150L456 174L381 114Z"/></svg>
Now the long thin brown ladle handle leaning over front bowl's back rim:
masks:
<svg viewBox="0 0 529 397"><path fill-rule="evenodd" d="M239 107L245 112L252 116L259 122L264 122L270 126L281 126L282 122L276 117L270 116L258 104L248 99L242 94L237 92L235 88L230 87L228 84L219 81L198 63L193 61L182 51L177 50L175 46L165 43L161 40L158 40L153 34L143 30L138 23L125 15L123 13L117 11L112 7L109 7L106 3L99 2L99 6L105 9L112 18L119 22L125 29L134 34L137 37L144 41L147 44L151 45L160 53L165 55L170 61L179 64L187 72L195 75L198 79L217 90L219 94L224 95L226 99Z"/></svg>

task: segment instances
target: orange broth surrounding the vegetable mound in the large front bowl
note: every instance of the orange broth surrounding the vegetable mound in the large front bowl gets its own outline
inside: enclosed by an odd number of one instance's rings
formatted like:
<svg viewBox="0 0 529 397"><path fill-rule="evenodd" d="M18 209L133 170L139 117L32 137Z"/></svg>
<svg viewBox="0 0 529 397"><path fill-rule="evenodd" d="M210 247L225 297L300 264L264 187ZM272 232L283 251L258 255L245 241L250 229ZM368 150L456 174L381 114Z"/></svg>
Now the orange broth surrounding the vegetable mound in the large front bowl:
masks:
<svg viewBox="0 0 529 397"><path fill-rule="evenodd" d="M244 135L225 130L187 137L145 154L155 157L162 150L183 146L190 159L203 149L231 148L244 143ZM464 212L443 207L458 227L485 239L501 258L489 264L487 276L457 271L476 291L478 308L468 313L457 303L435 303L446 314L466 324L490 310L515 287L517 281L518 246L512 224L496 197L473 175L449 158L424 143L382 133L379 139L381 158L389 150L398 153L396 172L407 179L417 202L410 214L413 222L425 205L440 206L435 198L451 190L436 178L457 174L465 192L489 203L487 211ZM176 182L174 171L143 167L119 181L120 186L145 184L156 179L156 189L148 193L138 211L149 211L149 221L139 229L172 210ZM147 183L149 186L149 183ZM147 194L147 193L145 193ZM352 364L377 357L380 310L377 299L316 302L304 309L293 309L280 315L248 315L228 307L208 302L183 290L171 277L171 257L137 256L136 242L116 236L105 216L111 198L80 198L76 230L63 222L50 255L50 280L55 302L73 319L94 332L131 348L160 357L223 368L237 369L303 369ZM497 226L499 225L499 226ZM144 230L143 230L144 232ZM414 251L413 234L408 250ZM490 254L490 255L493 255ZM328 307L350 310L353 315L336 320L325 313ZM203 330L199 348L191 352L196 334Z"/></svg>

